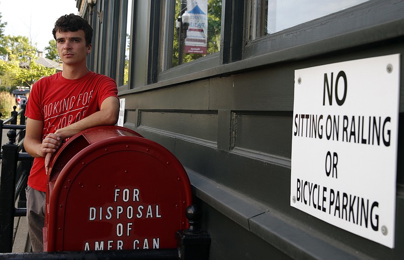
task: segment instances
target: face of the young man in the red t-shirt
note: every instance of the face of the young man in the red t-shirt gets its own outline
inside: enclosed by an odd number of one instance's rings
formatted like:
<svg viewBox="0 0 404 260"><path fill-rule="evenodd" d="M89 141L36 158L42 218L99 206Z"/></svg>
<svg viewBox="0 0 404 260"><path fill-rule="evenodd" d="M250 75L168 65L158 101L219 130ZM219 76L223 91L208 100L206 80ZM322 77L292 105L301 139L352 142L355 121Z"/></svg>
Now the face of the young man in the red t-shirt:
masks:
<svg viewBox="0 0 404 260"><path fill-rule="evenodd" d="M83 65L91 51L91 44L86 46L83 30L76 32L56 32L56 44L59 57L65 65Z"/></svg>

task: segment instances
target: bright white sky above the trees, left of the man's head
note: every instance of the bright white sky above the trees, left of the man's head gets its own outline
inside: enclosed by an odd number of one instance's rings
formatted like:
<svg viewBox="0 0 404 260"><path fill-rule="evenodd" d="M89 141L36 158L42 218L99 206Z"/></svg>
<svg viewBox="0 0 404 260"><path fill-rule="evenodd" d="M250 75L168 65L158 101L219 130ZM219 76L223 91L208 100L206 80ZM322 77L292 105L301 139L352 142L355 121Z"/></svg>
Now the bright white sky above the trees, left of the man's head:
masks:
<svg viewBox="0 0 404 260"><path fill-rule="evenodd" d="M0 0L1 22L7 22L5 35L27 36L38 50L45 50L54 39L56 20L65 14L78 14L75 0Z"/></svg>

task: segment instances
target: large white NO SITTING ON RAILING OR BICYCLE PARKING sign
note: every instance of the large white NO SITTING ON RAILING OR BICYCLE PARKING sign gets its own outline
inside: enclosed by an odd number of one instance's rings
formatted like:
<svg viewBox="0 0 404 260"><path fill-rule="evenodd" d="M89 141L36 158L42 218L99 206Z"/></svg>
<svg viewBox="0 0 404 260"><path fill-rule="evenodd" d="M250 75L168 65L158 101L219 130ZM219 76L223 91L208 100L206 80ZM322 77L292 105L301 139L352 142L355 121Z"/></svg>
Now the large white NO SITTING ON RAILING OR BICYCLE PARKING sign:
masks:
<svg viewBox="0 0 404 260"><path fill-rule="evenodd" d="M400 56L295 71L290 205L394 247Z"/></svg>

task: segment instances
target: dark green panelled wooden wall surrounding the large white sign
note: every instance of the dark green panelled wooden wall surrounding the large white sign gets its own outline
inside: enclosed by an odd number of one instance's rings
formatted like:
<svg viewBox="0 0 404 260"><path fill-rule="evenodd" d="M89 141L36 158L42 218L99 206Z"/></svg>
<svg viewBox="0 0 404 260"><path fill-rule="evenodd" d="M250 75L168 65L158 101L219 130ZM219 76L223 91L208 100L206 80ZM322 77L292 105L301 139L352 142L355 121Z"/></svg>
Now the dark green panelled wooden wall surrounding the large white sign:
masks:
<svg viewBox="0 0 404 260"><path fill-rule="evenodd" d="M160 61L147 54L158 46L148 26L156 6L134 1L131 79L119 87L124 126L185 167L212 235L211 259L404 258L404 1L371 0L242 42L240 60L214 54L150 79L150 62ZM394 249L290 206L294 71L390 54L401 54Z"/></svg>

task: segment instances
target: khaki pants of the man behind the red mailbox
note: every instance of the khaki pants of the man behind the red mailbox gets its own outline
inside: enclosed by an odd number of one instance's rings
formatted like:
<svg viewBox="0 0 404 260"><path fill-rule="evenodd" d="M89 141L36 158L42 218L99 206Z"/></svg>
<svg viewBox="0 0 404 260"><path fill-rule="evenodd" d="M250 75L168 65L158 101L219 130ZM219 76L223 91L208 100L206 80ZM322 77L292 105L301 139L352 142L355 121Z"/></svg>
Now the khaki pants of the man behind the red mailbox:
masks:
<svg viewBox="0 0 404 260"><path fill-rule="evenodd" d="M43 233L45 226L45 192L30 186L25 189L27 195L28 233L33 252L43 251Z"/></svg>

